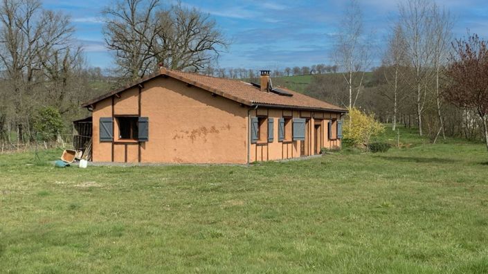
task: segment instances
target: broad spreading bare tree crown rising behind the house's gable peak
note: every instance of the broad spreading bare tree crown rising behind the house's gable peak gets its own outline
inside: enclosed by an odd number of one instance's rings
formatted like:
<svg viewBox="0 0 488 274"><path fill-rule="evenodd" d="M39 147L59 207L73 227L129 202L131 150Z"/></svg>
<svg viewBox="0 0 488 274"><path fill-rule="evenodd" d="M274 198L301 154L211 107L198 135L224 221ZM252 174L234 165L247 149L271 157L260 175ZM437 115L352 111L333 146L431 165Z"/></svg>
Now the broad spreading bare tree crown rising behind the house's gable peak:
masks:
<svg viewBox="0 0 488 274"><path fill-rule="evenodd" d="M203 70L228 45L210 15L181 3L159 6L160 0L117 0L102 12L105 42L127 80L152 73L158 64Z"/></svg>

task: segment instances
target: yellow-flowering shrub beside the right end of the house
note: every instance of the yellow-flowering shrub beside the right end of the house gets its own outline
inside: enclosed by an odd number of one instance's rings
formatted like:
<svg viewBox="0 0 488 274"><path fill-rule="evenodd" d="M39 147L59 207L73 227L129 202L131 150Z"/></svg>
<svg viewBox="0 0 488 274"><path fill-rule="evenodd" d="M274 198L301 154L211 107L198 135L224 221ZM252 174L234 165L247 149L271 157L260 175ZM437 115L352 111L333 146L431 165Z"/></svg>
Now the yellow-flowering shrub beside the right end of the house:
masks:
<svg viewBox="0 0 488 274"><path fill-rule="evenodd" d="M374 113L366 114L352 108L344 119L344 138L357 147L368 148L371 137L383 131L383 125L374 119Z"/></svg>

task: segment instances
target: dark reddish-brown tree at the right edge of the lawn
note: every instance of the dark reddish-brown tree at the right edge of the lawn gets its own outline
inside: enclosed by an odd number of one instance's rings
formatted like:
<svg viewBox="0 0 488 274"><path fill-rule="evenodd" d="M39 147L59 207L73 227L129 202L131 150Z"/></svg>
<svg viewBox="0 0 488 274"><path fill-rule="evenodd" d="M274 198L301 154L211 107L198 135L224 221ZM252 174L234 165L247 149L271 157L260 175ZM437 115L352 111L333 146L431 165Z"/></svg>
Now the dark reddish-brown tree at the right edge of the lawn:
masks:
<svg viewBox="0 0 488 274"><path fill-rule="evenodd" d="M458 107L476 110L488 149L488 42L470 35L456 40L453 48L444 98Z"/></svg>

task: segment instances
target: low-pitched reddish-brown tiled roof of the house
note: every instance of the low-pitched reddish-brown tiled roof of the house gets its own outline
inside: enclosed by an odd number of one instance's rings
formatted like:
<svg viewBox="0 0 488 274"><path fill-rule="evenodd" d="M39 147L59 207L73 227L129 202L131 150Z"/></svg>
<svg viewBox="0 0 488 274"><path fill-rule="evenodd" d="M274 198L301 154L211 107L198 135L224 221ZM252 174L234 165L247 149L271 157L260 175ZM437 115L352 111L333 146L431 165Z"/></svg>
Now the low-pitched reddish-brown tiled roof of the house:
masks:
<svg viewBox="0 0 488 274"><path fill-rule="evenodd" d="M125 91L126 89L131 88L132 86L136 86L161 75L173 77L177 80L186 82L187 84L198 86L201 89L205 89L206 91L210 91L217 95L221 95L224 98L228 98L230 100L234 100L248 106L264 105L269 107L346 112L345 109L337 107L334 104L329 104L328 102L323 102L321 100L311 98L307 95L303 95L302 93L291 91L289 89L284 89L283 87L280 87L280 89L288 91L293 96L282 96L272 92L260 91L258 87L246 82L242 82L240 80L212 77L200 75L197 73L186 73L183 71L173 71L169 69L161 69L159 73L149 75L142 78L141 80L132 82L131 84L124 86L121 89L117 89L116 91L112 91L111 93L102 95L99 98L96 98L89 102L85 102L84 104L82 104L82 107L89 107L91 104L108 98L111 95L120 93L122 91Z"/></svg>

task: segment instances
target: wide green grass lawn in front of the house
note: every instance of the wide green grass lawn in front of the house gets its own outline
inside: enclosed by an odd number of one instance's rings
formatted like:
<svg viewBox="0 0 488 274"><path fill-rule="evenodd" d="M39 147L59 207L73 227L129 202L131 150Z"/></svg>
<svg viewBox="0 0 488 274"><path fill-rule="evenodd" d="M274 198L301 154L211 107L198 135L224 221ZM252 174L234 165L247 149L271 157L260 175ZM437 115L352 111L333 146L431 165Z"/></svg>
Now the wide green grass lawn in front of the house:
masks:
<svg viewBox="0 0 488 274"><path fill-rule="evenodd" d="M484 146L403 138L251 167L2 155L0 272L488 273Z"/></svg>

